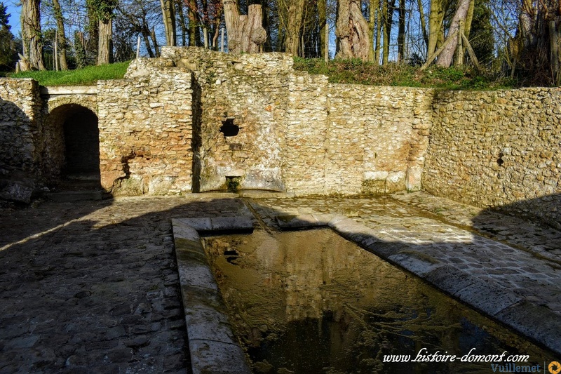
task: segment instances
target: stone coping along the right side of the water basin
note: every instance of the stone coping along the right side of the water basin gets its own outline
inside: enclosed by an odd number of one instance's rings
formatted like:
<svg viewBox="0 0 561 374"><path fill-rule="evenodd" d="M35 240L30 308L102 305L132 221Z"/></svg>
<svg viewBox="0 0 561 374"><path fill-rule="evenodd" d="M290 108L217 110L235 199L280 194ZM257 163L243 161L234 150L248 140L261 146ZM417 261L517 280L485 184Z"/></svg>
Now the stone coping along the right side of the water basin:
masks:
<svg viewBox="0 0 561 374"><path fill-rule="evenodd" d="M331 216L331 218L330 218ZM374 230L344 215L277 215L281 229L304 229L327 226L379 257L398 265L436 288L478 309L492 319L506 324L527 338L561 354L561 319L546 307L523 301L511 290L489 281L481 281L451 265L415 251L407 243L383 241Z"/></svg>

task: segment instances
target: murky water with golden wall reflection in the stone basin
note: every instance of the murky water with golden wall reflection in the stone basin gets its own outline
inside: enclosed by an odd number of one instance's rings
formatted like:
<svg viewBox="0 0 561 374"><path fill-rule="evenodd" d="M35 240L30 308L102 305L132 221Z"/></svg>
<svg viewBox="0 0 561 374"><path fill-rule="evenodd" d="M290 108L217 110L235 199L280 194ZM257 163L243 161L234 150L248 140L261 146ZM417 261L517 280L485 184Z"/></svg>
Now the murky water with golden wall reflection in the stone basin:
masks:
<svg viewBox="0 0 561 374"><path fill-rule="evenodd" d="M413 359L423 348L459 357L472 348L529 354L542 367L553 359L330 230L205 242L255 373L493 372L488 362L384 362L386 354Z"/></svg>

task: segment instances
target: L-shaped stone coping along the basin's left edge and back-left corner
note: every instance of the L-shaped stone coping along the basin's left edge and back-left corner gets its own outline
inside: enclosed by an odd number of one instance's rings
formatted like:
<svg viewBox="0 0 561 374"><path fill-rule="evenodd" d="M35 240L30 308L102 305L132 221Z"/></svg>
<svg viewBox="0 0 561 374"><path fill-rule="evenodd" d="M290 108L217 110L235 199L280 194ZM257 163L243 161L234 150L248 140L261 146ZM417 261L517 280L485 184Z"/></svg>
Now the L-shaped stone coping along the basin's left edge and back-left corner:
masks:
<svg viewBox="0 0 561 374"><path fill-rule="evenodd" d="M252 220L175 218L172 226L193 373L250 374L198 230L246 231L253 228Z"/></svg>

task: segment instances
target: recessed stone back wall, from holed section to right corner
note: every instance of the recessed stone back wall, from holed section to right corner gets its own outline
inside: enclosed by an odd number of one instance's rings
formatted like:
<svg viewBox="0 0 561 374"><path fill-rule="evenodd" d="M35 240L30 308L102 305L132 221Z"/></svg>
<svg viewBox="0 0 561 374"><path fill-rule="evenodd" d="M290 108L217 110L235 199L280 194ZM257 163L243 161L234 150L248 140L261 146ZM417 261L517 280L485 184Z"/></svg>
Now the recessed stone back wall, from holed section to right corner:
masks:
<svg viewBox="0 0 561 374"><path fill-rule="evenodd" d="M280 53L163 48L161 59L192 70L201 91L201 191L229 178L297 194L421 188L431 90L328 84Z"/></svg>

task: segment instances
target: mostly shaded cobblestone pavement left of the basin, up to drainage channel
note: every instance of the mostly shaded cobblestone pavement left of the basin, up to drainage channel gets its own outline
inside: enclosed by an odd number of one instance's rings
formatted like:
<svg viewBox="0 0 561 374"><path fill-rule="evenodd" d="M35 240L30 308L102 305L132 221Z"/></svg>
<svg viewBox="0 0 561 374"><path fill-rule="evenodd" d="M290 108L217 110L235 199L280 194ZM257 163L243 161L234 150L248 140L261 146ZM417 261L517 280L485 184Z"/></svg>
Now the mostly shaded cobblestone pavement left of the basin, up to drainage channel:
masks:
<svg viewBox="0 0 561 374"><path fill-rule="evenodd" d="M0 373L186 373L170 218L240 207L184 198L4 206Z"/></svg>

